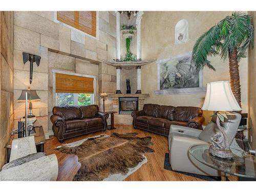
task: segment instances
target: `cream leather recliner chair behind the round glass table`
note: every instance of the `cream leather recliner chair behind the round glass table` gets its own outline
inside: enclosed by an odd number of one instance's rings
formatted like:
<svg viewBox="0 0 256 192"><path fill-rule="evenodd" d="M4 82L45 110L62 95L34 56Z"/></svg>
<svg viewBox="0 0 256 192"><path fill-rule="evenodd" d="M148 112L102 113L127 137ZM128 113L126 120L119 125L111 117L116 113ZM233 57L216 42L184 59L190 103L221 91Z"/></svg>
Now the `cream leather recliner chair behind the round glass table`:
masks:
<svg viewBox="0 0 256 192"><path fill-rule="evenodd" d="M206 176L221 176L216 169L206 166L188 153L189 146L193 144L210 144L210 136L218 131L216 124L216 115L212 117L211 122L203 131L192 129L190 127L171 125L168 136L169 161L173 170L180 172L193 173ZM228 119L221 122L227 134L228 143L231 145L234 136L237 134L238 126L241 121L241 114L232 113Z"/></svg>

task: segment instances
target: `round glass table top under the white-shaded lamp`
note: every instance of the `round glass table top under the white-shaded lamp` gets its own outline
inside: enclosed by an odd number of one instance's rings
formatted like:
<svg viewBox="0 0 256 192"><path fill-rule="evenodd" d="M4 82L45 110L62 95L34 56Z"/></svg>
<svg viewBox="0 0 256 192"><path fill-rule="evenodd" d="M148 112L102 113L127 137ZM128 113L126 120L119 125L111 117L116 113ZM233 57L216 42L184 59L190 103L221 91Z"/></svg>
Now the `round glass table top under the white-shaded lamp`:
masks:
<svg viewBox="0 0 256 192"><path fill-rule="evenodd" d="M256 157L231 148L234 158L222 159L209 154L209 144L195 144L189 147L189 154L201 163L226 174L256 178Z"/></svg>

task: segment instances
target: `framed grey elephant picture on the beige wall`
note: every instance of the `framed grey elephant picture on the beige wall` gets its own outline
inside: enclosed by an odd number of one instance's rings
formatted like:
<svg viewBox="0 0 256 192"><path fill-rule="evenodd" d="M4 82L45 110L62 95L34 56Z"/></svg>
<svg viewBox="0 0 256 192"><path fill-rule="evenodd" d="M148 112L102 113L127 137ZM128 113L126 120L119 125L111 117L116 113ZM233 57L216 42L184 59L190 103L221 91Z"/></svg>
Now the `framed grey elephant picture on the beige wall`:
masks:
<svg viewBox="0 0 256 192"><path fill-rule="evenodd" d="M203 72L191 64L191 52L157 61L156 94L205 93Z"/></svg>

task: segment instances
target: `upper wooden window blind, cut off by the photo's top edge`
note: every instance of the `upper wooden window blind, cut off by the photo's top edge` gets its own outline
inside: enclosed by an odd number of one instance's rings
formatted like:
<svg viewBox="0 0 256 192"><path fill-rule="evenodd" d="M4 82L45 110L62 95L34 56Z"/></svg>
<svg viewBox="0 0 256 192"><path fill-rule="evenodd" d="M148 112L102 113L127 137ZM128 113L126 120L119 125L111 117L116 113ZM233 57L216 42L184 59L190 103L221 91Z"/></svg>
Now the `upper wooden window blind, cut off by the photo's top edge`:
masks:
<svg viewBox="0 0 256 192"><path fill-rule="evenodd" d="M57 20L96 37L96 11L57 11Z"/></svg>

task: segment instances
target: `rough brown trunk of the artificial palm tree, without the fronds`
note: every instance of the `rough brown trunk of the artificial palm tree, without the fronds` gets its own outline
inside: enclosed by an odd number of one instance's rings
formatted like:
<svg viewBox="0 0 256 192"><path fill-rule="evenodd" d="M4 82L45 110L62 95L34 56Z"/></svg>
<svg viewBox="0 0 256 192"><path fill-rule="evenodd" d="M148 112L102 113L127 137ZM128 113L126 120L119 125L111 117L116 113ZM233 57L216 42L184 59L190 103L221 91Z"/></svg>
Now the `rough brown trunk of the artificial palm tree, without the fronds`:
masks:
<svg viewBox="0 0 256 192"><path fill-rule="evenodd" d="M241 89L240 89L240 76L239 76L239 65L238 65L238 50L235 49L229 53L229 75L230 85L234 97L237 99L238 104L241 107Z"/></svg>

